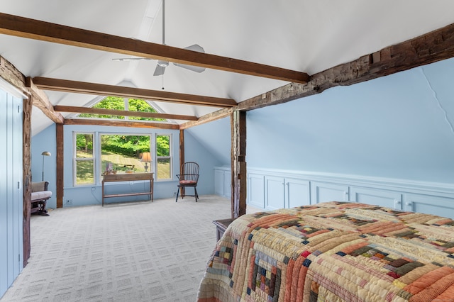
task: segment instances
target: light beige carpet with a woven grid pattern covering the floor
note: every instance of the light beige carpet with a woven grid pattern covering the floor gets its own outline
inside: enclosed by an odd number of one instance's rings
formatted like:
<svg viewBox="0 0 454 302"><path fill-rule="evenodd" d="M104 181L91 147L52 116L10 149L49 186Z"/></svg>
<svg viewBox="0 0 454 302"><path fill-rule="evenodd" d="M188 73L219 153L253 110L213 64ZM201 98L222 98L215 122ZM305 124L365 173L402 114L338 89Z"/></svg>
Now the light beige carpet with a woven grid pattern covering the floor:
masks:
<svg viewBox="0 0 454 302"><path fill-rule="evenodd" d="M28 265L6 301L195 301L219 196L59 208L31 218Z"/></svg>

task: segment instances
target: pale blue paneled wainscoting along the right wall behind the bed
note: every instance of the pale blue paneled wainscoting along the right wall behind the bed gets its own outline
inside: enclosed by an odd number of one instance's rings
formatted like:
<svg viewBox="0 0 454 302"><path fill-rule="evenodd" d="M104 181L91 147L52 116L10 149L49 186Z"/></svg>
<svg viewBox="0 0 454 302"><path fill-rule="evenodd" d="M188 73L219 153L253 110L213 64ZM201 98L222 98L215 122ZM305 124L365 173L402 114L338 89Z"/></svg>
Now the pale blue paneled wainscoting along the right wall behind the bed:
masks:
<svg viewBox="0 0 454 302"><path fill-rule="evenodd" d="M215 192L230 196L230 169L215 167ZM247 203L265 211L354 201L454 218L454 186L427 181L248 168Z"/></svg>

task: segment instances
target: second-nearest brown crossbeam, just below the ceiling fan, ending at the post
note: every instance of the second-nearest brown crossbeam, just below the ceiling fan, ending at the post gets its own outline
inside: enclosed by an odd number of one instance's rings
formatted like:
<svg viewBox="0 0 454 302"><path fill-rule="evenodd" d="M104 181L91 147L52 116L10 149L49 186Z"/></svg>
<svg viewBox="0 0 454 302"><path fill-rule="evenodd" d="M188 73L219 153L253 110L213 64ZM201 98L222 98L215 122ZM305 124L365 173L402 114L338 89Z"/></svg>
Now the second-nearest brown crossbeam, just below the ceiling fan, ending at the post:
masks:
<svg viewBox="0 0 454 302"><path fill-rule="evenodd" d="M77 82L66 79L51 79L47 77L34 77L33 82L38 88L43 90L72 92L77 94L94 94L99 96L123 96L138 99L148 99L150 101L165 101L200 106L215 106L215 107L236 106L236 101L233 99L223 99L212 96L177 94L175 92L168 91Z"/></svg>

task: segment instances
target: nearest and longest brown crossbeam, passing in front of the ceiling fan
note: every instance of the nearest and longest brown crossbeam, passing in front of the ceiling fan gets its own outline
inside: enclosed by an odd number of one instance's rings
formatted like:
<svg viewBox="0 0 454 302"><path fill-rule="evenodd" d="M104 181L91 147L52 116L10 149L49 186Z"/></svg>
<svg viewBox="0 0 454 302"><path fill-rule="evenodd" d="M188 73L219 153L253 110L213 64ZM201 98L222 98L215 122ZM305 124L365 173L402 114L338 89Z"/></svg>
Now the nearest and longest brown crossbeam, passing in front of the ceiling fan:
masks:
<svg viewBox="0 0 454 302"><path fill-rule="evenodd" d="M287 82L306 83L309 81L309 75L304 72L123 38L118 35L97 33L92 30L63 26L6 13L0 13L0 33Z"/></svg>

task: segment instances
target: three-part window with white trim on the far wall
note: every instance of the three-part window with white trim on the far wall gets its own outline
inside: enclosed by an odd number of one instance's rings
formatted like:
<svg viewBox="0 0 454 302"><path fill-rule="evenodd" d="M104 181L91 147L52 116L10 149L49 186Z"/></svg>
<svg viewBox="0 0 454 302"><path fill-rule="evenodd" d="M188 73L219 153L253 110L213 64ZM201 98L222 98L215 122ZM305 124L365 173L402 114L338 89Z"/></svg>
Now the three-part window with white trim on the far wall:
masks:
<svg viewBox="0 0 454 302"><path fill-rule="evenodd" d="M74 186L96 184L104 173L154 172L156 180L172 179L170 134L75 132L73 145Z"/></svg>

